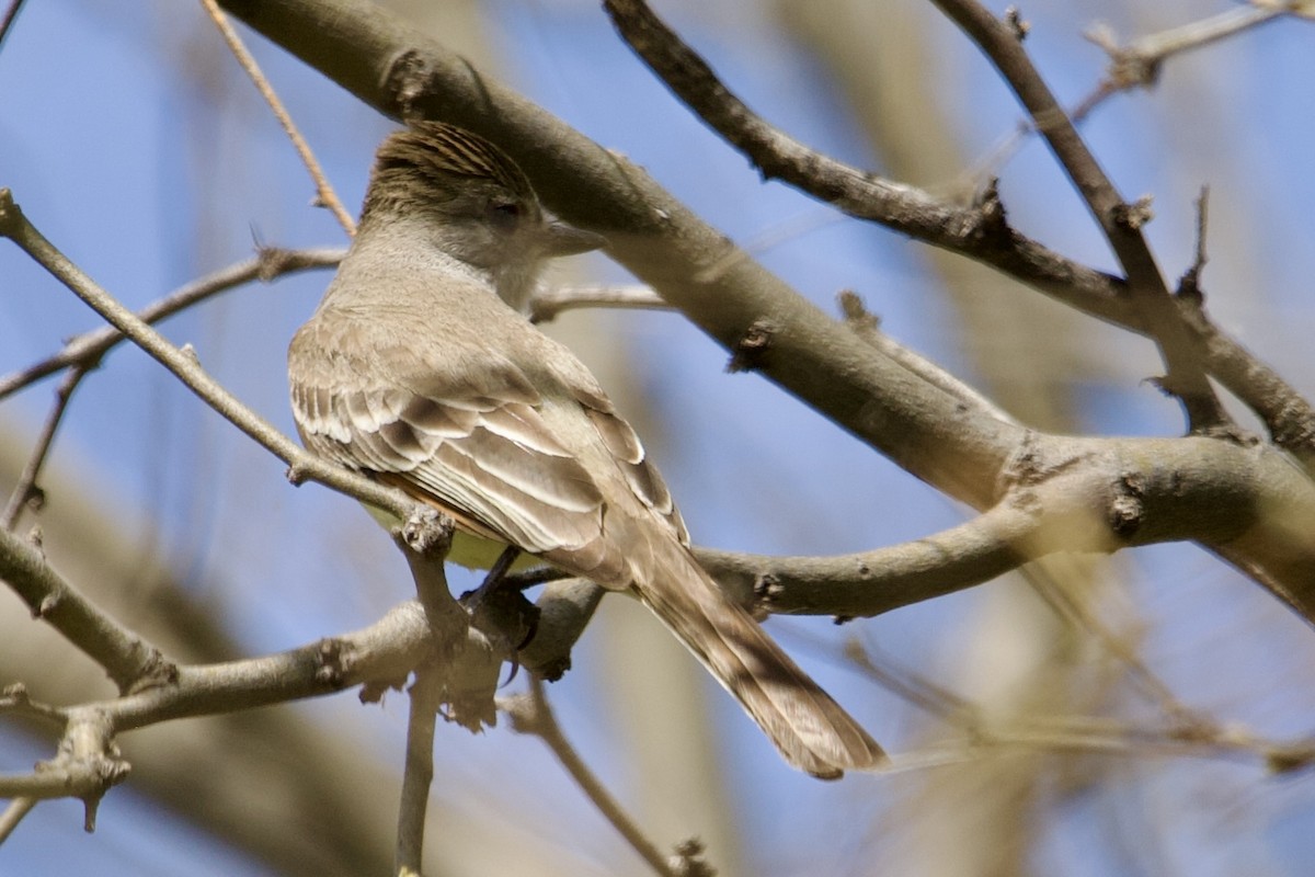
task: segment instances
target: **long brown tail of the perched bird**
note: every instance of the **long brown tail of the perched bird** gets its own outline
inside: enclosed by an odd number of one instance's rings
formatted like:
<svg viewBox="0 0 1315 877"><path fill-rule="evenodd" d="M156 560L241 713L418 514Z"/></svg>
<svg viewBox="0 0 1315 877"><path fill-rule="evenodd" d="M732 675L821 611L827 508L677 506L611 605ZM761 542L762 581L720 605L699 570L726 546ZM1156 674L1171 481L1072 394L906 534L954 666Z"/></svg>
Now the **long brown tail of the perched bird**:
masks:
<svg viewBox="0 0 1315 877"><path fill-rule="evenodd" d="M886 755L831 696L731 602L675 539L633 564L639 597L735 696L796 768L831 780Z"/></svg>

